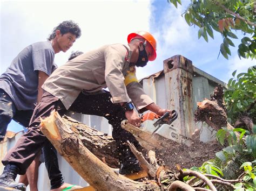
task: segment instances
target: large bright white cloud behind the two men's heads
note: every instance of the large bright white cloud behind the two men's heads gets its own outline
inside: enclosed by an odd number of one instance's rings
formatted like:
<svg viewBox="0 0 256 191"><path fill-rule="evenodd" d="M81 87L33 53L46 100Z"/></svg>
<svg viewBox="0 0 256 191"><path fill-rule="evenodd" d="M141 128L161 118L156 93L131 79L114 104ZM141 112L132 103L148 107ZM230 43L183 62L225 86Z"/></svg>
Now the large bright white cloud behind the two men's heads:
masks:
<svg viewBox="0 0 256 191"><path fill-rule="evenodd" d="M105 44L126 44L127 34L149 31L150 1L16 1L1 2L1 68L4 72L22 48L44 41L63 20L74 20L82 36L67 53L56 54L62 65L72 50L83 52Z"/></svg>

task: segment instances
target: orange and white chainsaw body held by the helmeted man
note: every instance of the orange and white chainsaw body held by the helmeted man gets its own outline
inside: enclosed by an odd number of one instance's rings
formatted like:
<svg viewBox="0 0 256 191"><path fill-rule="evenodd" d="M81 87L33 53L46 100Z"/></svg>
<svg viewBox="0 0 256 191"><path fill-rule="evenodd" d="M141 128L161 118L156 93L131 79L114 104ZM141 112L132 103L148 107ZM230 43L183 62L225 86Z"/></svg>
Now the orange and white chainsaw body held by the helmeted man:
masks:
<svg viewBox="0 0 256 191"><path fill-rule="evenodd" d="M142 124L140 129L150 133L152 136L157 133L167 139L177 142L177 140L179 140L179 129L172 125L177 117L178 114L175 110L172 110L171 117L170 112L166 112L161 117L154 112L147 112L142 116Z"/></svg>

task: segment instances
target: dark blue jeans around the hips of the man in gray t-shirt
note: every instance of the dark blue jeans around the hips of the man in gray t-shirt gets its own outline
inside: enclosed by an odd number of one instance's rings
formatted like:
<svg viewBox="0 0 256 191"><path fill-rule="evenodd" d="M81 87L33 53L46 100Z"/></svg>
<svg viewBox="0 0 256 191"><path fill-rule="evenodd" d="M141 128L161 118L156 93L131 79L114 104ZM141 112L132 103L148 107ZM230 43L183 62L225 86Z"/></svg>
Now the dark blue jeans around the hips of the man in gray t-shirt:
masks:
<svg viewBox="0 0 256 191"><path fill-rule="evenodd" d="M11 97L3 89L0 89L0 141L4 139L11 119L24 127L28 127L32 114L33 110L17 110Z"/></svg>

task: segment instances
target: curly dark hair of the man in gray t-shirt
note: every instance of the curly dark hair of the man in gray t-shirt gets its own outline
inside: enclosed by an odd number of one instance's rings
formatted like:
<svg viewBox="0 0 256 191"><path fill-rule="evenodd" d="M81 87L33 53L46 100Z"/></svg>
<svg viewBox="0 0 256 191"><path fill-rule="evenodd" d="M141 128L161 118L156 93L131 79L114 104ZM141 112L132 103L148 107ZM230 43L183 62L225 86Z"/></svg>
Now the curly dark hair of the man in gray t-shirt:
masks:
<svg viewBox="0 0 256 191"><path fill-rule="evenodd" d="M72 33L75 34L76 38L79 38L81 36L81 29L78 26L78 24L74 23L72 20L66 20L62 23L60 23L58 26L56 26L52 33L49 35L47 40L52 40L56 36L56 30L60 30L60 33L63 35L65 33Z"/></svg>

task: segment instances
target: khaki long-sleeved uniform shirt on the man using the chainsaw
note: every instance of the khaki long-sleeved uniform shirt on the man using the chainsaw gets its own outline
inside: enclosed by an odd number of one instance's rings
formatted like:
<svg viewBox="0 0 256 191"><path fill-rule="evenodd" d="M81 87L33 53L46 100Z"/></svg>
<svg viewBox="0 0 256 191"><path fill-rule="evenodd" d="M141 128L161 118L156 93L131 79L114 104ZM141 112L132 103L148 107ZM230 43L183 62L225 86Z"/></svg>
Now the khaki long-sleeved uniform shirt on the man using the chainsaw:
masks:
<svg viewBox="0 0 256 191"><path fill-rule="evenodd" d="M130 65L131 51L122 44L105 45L77 56L58 67L45 81L43 89L58 97L69 109L81 91L89 93L109 88L113 103L132 102L137 109L153 103Z"/></svg>

